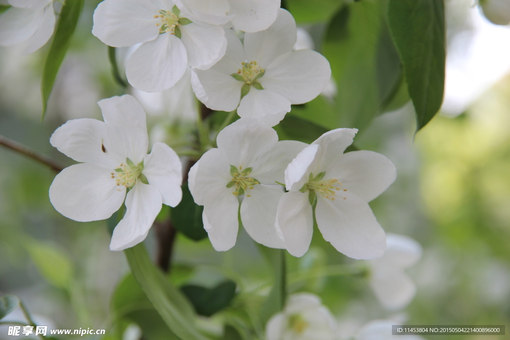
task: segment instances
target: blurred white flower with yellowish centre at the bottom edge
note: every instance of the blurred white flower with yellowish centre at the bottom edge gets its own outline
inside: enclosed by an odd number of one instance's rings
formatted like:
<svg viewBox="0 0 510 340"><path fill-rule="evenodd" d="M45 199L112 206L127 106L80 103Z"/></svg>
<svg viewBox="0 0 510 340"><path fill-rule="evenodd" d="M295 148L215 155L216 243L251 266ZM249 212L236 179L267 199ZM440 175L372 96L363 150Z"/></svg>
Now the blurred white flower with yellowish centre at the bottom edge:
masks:
<svg viewBox="0 0 510 340"><path fill-rule="evenodd" d="M282 312L266 325L267 340L334 340L337 324L318 296L299 293L289 296Z"/></svg>

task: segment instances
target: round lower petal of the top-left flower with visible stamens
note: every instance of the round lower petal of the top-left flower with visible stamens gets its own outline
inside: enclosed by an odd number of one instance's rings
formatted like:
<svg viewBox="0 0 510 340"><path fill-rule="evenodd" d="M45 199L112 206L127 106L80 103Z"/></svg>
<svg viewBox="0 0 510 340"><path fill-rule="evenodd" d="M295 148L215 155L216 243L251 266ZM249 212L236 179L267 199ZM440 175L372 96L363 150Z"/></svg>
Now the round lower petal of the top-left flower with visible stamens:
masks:
<svg viewBox="0 0 510 340"><path fill-rule="evenodd" d="M140 45L127 60L126 77L145 92L171 88L186 72L188 57L181 39L164 33Z"/></svg>

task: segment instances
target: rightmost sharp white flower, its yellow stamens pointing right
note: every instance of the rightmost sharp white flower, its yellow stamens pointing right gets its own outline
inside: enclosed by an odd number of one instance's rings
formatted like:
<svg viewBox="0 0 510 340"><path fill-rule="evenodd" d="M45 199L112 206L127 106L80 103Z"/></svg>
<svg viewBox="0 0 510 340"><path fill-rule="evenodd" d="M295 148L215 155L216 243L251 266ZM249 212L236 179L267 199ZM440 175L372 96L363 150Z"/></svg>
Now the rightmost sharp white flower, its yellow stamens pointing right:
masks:
<svg viewBox="0 0 510 340"><path fill-rule="evenodd" d="M276 229L285 248L302 256L310 246L315 218L324 239L356 259L380 257L385 232L368 202L395 180L393 163L372 151L343 154L357 129L331 130L302 150L285 170L288 193L278 203Z"/></svg>

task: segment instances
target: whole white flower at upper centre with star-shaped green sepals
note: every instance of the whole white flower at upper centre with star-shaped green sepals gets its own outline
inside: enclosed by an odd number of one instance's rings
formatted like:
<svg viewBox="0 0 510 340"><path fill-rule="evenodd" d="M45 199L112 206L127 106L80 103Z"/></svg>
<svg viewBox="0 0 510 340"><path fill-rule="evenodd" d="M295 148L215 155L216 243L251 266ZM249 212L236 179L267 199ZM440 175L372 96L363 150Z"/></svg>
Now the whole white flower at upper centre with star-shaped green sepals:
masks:
<svg viewBox="0 0 510 340"><path fill-rule="evenodd" d="M269 29L244 35L244 46L225 32L225 56L208 70L194 69L193 91L208 108L233 111L276 125L290 111L317 97L331 77L329 63L316 51L293 51L296 22L280 9ZM239 108L238 108L239 106Z"/></svg>

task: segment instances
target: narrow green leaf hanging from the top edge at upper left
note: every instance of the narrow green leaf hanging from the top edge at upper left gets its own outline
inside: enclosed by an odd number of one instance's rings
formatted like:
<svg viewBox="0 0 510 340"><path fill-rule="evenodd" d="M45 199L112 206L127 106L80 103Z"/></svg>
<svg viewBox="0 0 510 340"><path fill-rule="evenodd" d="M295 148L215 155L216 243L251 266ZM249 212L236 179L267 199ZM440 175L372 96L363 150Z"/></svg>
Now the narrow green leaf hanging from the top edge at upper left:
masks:
<svg viewBox="0 0 510 340"><path fill-rule="evenodd" d="M52 92L57 72L71 43L71 38L82 12L83 3L84 0L66 0L60 11L52 45L49 47L42 68L42 118L46 114L49 94Z"/></svg>

